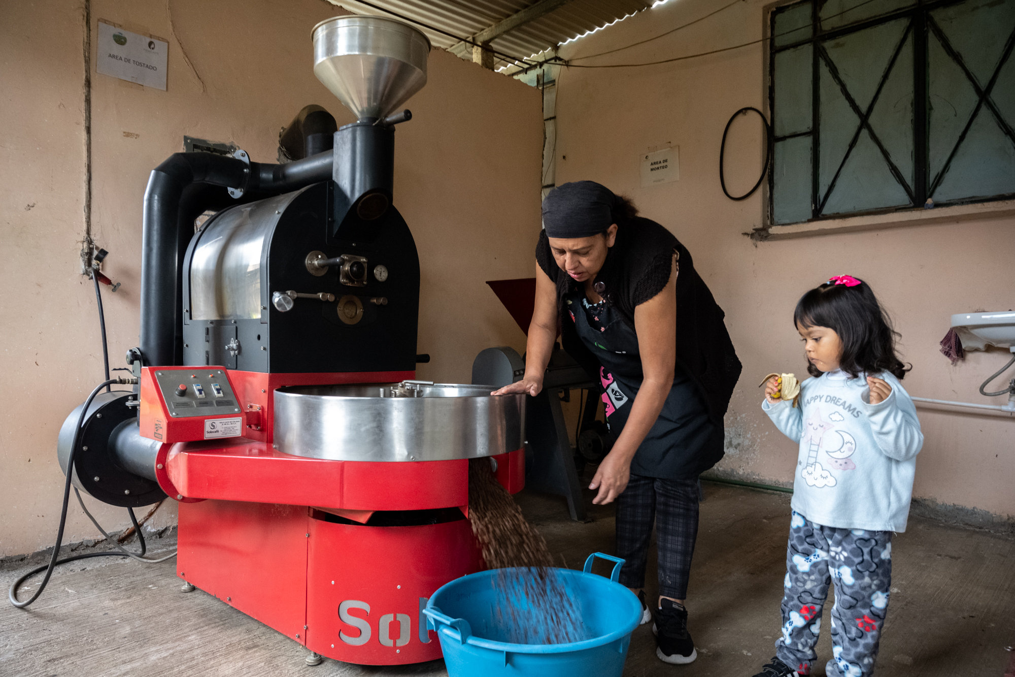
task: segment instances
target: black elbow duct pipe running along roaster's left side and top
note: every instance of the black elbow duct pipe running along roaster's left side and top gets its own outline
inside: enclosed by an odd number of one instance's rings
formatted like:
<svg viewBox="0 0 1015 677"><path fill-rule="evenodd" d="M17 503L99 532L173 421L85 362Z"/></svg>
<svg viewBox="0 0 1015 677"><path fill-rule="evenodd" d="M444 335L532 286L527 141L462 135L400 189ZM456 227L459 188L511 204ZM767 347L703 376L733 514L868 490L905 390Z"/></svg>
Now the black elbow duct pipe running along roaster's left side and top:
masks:
<svg viewBox="0 0 1015 677"><path fill-rule="evenodd" d="M144 366L180 363L183 262L194 219L232 203L225 188L261 198L326 181L332 152L288 165L246 163L210 152L178 152L156 167L144 192L141 239L141 356ZM208 189L220 187L220 190Z"/></svg>

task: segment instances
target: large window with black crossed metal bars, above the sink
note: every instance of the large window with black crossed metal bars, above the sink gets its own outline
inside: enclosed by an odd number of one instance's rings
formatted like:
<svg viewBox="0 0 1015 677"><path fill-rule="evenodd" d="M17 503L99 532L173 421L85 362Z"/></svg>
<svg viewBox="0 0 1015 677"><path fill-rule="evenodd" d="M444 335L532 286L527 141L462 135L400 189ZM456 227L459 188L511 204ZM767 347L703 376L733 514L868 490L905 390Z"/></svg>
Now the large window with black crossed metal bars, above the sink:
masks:
<svg viewBox="0 0 1015 677"><path fill-rule="evenodd" d="M805 0L769 20L769 223L1015 197L1015 0Z"/></svg>

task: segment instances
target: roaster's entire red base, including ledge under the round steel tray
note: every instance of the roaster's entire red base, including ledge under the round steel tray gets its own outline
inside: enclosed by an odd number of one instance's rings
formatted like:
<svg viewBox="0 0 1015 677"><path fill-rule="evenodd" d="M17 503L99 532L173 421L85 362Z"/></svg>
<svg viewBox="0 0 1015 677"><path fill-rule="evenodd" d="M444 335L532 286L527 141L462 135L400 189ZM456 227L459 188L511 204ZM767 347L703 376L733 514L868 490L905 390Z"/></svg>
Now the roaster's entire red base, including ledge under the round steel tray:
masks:
<svg viewBox="0 0 1015 677"><path fill-rule="evenodd" d="M181 486L194 489L187 483L185 466L174 468L181 458L189 454L197 464L223 454L231 457L233 450L243 448L181 451L167 459L168 470L177 474ZM377 505L360 505L357 501L347 505L344 500L321 497L319 507L307 507L256 503L243 492L235 493L235 486L251 484L264 487L263 496L275 496L263 482L254 481L259 477L257 473L247 471L286 460L270 452L239 455L245 457L245 463L234 464L231 474L225 468L211 472L216 470L211 467L200 474L225 482L208 491L209 500L185 499L179 504L180 577L328 658L359 665L399 665L441 658L441 643L426 631L421 609L437 588L479 571L483 565L471 526L463 514L468 501L468 464L433 461L451 473L441 483L450 493L443 500L430 496L423 501L427 506L417 506L414 500L406 502L407 497L415 495L407 487L400 494L402 500L375 498ZM496 460L497 480L510 492L520 491L525 478L525 451L501 454ZM320 471L318 465L340 468L343 461L290 456L288 465L274 470ZM401 468L405 464L347 465L379 475L377 482L367 483L376 486L384 477L397 479L400 473L415 472L415 466L429 464L415 464L413 468ZM197 468L203 467L198 464L190 470ZM327 476L314 475L310 473L304 484L320 484ZM281 473L276 485L285 485L282 477L288 476ZM242 478L248 482L241 482ZM288 479L294 481L295 477ZM324 484L336 496L344 495L338 491L341 483ZM212 498L215 495L243 495L247 500ZM449 502L451 497L458 500ZM282 494L276 496L276 500L285 498ZM433 505L437 509L421 509ZM382 506L385 515L394 515L396 522L407 518L426 524L357 524L367 521Z"/></svg>

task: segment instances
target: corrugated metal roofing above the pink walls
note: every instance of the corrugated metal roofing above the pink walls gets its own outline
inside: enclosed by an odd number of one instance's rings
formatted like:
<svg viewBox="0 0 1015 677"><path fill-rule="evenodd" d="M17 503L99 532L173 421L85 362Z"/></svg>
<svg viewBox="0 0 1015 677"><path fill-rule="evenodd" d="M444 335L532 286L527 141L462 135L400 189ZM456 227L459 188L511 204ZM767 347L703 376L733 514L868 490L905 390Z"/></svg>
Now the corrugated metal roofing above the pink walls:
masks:
<svg viewBox="0 0 1015 677"><path fill-rule="evenodd" d="M356 14L408 19L426 34L434 47L450 50L462 39L534 4L533 0L329 0ZM496 52L494 69L550 50L652 6L653 0L570 0L490 42ZM451 35L448 35L451 34ZM455 50L471 58L471 46ZM518 60L518 61L516 61ZM517 70L511 68L511 71Z"/></svg>

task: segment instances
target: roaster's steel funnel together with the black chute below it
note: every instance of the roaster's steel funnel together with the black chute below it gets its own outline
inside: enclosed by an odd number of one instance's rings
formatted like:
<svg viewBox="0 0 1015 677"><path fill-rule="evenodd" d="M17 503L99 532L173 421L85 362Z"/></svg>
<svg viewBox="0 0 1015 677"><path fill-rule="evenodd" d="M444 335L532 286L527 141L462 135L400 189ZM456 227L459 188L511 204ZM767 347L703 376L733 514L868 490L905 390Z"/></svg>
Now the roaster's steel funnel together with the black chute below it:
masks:
<svg viewBox="0 0 1015 677"><path fill-rule="evenodd" d="M362 239L391 206L394 126L412 117L392 111L426 84L430 43L380 16L336 16L313 35L314 74L357 118L335 132L332 178L339 237Z"/></svg>

